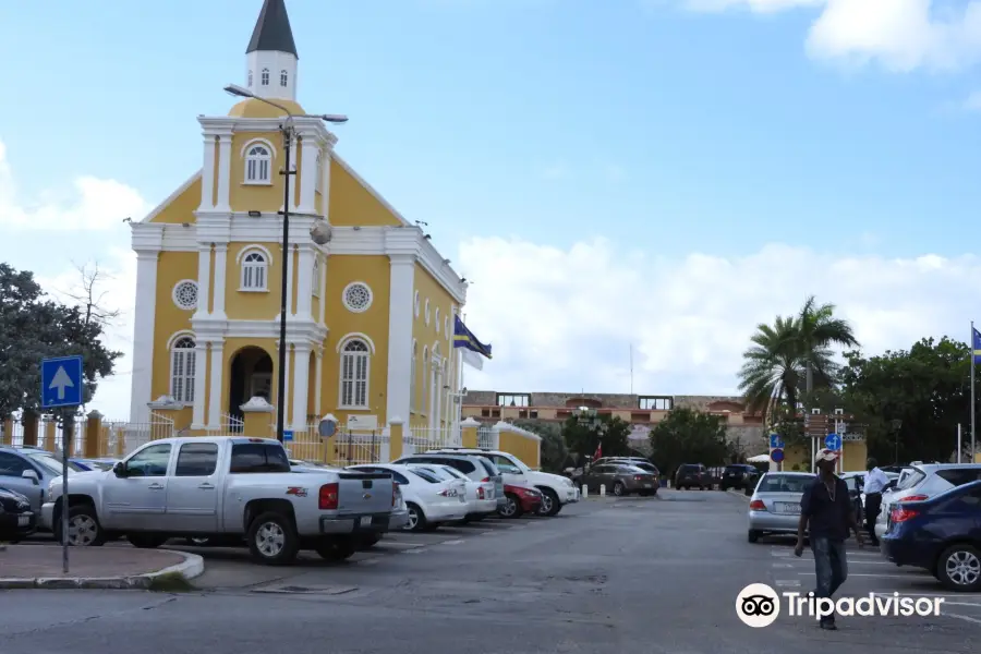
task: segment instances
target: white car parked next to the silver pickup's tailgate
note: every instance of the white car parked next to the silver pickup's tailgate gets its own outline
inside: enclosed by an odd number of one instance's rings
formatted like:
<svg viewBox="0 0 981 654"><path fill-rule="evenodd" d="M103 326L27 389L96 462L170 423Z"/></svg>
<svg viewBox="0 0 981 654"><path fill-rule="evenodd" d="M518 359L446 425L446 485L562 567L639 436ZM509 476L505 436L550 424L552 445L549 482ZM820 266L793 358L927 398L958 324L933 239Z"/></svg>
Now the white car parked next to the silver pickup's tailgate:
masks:
<svg viewBox="0 0 981 654"><path fill-rule="evenodd" d="M397 463L363 463L350 469L391 474L409 512L409 520L402 528L405 531L436 529L467 518L467 486L462 480L439 480L425 470Z"/></svg>

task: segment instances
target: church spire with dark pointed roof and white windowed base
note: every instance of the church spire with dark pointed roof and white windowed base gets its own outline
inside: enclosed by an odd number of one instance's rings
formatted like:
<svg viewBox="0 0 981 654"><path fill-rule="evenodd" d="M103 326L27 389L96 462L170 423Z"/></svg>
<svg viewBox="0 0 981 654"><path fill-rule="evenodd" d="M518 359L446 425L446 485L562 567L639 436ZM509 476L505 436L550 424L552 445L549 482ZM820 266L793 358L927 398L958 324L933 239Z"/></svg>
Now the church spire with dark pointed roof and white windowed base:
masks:
<svg viewBox="0 0 981 654"><path fill-rule="evenodd" d="M284 0L264 0L245 49L249 90L261 98L296 101L298 59Z"/></svg>

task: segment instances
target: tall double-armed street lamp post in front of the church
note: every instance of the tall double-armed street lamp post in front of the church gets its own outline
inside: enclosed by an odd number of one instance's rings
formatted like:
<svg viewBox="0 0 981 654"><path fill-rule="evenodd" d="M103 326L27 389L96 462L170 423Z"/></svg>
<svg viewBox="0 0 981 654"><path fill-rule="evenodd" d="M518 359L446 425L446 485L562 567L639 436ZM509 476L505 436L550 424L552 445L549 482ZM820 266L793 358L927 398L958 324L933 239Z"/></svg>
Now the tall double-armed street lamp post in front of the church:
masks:
<svg viewBox="0 0 981 654"><path fill-rule="evenodd" d="M295 129L293 128L293 119L294 118L316 118L323 120L325 122L341 124L348 122L347 116L338 116L331 113L319 113L319 114L311 114L311 113L302 113L294 114L289 109L274 102L272 100L267 100L266 98L259 97L244 88L242 86L238 86L237 84L229 84L225 87L225 90L230 95L238 96L241 98L253 98L261 102L265 102L271 107L276 107L280 111L286 113L286 120L283 124L280 126L280 131L282 132L282 144L283 144L283 167L279 174L283 175L282 183L282 210L279 211L279 215L282 216L282 284L280 289L280 299L279 299L279 376L276 388L276 438L282 443L283 434L286 431L286 361L287 361L287 298L289 298L289 286L287 282L287 275L289 274L289 261L290 261L290 177L296 174L295 170L290 169L290 152L292 148L293 138L295 137ZM317 228L314 227L311 230L311 235L315 237L314 232L317 234L323 233L323 230L317 231ZM326 242L326 241L325 241ZM323 243L318 243L323 245Z"/></svg>

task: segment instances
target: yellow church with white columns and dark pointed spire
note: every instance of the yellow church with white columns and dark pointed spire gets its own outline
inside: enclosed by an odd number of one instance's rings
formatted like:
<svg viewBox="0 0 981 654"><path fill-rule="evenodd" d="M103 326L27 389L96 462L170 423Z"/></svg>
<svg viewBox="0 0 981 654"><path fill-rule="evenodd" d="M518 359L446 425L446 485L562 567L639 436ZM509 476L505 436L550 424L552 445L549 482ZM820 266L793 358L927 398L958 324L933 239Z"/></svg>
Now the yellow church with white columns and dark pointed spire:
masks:
<svg viewBox="0 0 981 654"><path fill-rule="evenodd" d="M286 256L287 429L308 432L331 413L341 427L403 423L432 444L458 420L453 316L467 284L340 157L324 122L304 116L298 62L283 0L265 0L245 53L254 97L198 118L201 169L131 225L131 422L166 413L177 433L234 433L249 408L271 413ZM295 174L283 252L287 167ZM311 238L320 220L324 245Z"/></svg>

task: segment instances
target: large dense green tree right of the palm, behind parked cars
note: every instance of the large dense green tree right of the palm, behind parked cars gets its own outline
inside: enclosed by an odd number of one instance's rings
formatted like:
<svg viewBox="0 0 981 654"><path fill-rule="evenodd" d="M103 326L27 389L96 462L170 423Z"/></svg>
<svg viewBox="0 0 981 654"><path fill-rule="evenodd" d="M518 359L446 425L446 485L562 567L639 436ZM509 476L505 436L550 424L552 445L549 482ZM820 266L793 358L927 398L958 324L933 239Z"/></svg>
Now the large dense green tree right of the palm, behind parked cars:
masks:
<svg viewBox="0 0 981 654"><path fill-rule="evenodd" d="M946 337L877 356L848 353L846 412L864 423L870 456L881 462L950 457L958 423L965 433L970 425L969 355L967 344Z"/></svg>

